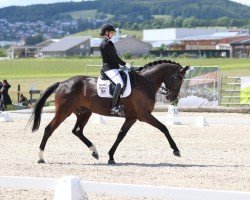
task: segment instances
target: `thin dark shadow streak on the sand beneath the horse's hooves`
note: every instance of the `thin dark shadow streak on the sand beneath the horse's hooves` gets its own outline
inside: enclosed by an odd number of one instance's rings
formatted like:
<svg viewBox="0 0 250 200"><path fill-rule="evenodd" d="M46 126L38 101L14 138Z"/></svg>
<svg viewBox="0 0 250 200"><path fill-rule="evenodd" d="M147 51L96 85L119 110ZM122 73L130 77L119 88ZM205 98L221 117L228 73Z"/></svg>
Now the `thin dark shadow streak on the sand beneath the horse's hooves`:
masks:
<svg viewBox="0 0 250 200"><path fill-rule="evenodd" d="M177 164L177 163L117 163L114 165L110 165L108 163L89 163L89 164L82 164L82 163L63 163L63 162L48 162L48 164L54 164L54 165L77 165L77 166L109 166L109 167L119 167L119 166L136 166L136 167L150 167L150 168L159 168L159 167L165 167L165 168L192 168L192 167L198 167L198 168L210 168L210 167L216 167L216 168L224 168L224 167L231 167L231 168L238 168L238 167L246 167L250 168L250 166L245 165L212 165L212 164Z"/></svg>

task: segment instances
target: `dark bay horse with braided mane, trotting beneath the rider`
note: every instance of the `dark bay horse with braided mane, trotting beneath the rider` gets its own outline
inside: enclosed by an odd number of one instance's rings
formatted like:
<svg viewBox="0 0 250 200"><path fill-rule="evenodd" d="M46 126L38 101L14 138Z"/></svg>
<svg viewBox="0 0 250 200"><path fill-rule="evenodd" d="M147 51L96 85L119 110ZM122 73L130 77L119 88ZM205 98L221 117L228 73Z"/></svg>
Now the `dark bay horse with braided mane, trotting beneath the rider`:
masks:
<svg viewBox="0 0 250 200"><path fill-rule="evenodd" d="M116 141L108 152L109 164L115 164L114 153L131 126L137 120L146 122L159 129L166 136L170 147L173 149L173 154L181 156L167 127L159 122L151 113L154 109L156 93L160 88L163 89L167 100L174 101L177 99L188 69L189 66L182 67L180 64L172 61L158 60L140 67L138 71L130 71L130 77L131 80L134 80L134 83L132 84L131 94L122 99L125 110L125 122L118 133ZM99 97L96 84L97 78L74 76L63 82L51 85L38 99L30 118L30 123L33 123L32 132L39 129L42 108L47 98L55 92L55 115L44 130L38 153L38 163L45 162L43 152L49 137L72 113L77 118L72 130L73 134L87 145L94 158L99 158L95 145L84 136L83 129L92 113L112 116L110 111L112 99ZM165 87L161 86L162 84Z"/></svg>

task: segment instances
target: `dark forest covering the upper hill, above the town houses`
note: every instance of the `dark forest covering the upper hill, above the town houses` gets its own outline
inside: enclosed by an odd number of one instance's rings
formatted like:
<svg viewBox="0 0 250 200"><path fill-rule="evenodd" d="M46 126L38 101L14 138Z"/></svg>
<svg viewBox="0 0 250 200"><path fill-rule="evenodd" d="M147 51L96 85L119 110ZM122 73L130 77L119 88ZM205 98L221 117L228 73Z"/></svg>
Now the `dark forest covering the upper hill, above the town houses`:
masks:
<svg viewBox="0 0 250 200"><path fill-rule="evenodd" d="M94 18L121 28L166 28L236 26L250 24L250 7L229 0L95 0L0 9L0 19L9 22L50 23L72 19L70 12L94 10Z"/></svg>

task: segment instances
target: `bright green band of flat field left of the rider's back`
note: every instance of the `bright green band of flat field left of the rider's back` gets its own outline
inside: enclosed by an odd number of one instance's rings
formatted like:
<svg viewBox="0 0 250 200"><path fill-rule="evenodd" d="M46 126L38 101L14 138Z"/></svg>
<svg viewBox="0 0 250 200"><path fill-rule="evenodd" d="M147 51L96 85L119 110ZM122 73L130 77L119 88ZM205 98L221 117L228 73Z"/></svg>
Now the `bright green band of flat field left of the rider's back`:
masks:
<svg viewBox="0 0 250 200"><path fill-rule="evenodd" d="M82 74L86 64L101 59L17 59L0 61L1 78L70 77Z"/></svg>

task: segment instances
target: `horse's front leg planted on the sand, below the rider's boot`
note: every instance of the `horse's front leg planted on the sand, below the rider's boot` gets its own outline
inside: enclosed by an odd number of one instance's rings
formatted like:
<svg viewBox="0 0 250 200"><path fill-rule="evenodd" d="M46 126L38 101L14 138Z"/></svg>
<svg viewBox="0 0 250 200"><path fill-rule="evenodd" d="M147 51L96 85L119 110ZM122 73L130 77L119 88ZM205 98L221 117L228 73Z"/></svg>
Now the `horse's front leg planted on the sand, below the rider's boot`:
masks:
<svg viewBox="0 0 250 200"><path fill-rule="evenodd" d="M123 138L126 136L127 132L129 131L129 129L131 128L131 126L136 122L136 119L125 119L125 122L122 125L122 128L116 138L115 143L113 144L113 146L111 147L111 149L109 150L109 161L108 164L116 164L115 160L114 160L114 154L115 151L118 147L118 145L120 144L120 142L123 140Z"/></svg>

